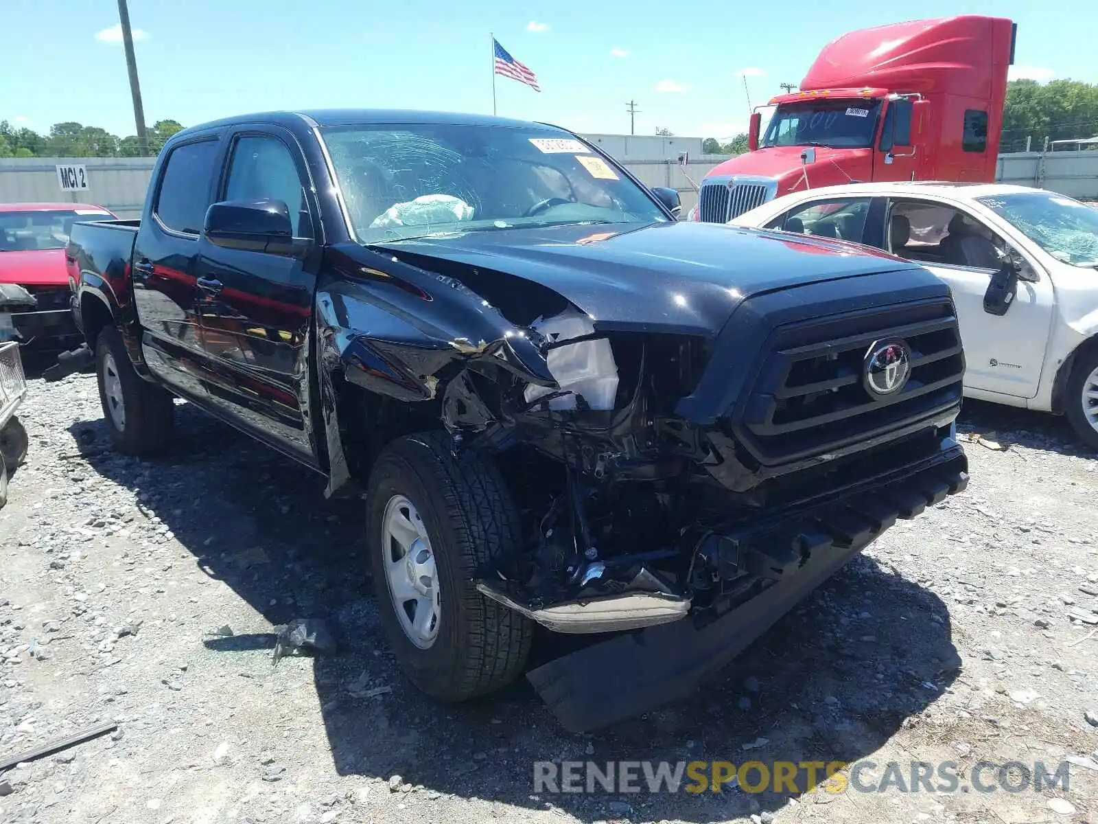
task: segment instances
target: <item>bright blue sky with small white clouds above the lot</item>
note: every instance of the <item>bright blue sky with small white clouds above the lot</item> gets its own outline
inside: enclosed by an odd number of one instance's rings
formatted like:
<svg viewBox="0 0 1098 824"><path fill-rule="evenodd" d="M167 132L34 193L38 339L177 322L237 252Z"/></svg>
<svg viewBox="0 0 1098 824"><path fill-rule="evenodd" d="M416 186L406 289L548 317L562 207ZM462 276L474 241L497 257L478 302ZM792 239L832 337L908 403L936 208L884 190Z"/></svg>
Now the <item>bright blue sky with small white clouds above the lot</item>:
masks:
<svg viewBox="0 0 1098 824"><path fill-rule="evenodd" d="M1016 74L1098 82L1094 0L875 7L130 0L130 18L148 123L325 107L491 112L490 31L542 88L496 78L498 113L579 132L627 133L626 102L636 100L638 134L663 126L729 137L748 119L744 73L751 101L763 102L780 82L798 82L829 40L911 16L1009 16L1019 23ZM0 15L0 119L42 132L75 120L133 133L114 0L3 0Z"/></svg>

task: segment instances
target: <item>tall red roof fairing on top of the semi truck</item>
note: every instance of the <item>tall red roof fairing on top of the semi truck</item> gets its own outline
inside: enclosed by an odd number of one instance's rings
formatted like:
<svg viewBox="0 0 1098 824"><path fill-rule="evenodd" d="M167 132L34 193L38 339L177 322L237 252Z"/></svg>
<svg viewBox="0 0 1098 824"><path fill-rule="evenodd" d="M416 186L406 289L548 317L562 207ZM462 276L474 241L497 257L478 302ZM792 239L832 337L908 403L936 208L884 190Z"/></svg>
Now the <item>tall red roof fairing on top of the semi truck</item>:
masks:
<svg viewBox="0 0 1098 824"><path fill-rule="evenodd" d="M861 29L824 46L800 88L931 93L948 87L955 94L987 98L993 66L1013 62L1013 42L1010 20L978 14Z"/></svg>

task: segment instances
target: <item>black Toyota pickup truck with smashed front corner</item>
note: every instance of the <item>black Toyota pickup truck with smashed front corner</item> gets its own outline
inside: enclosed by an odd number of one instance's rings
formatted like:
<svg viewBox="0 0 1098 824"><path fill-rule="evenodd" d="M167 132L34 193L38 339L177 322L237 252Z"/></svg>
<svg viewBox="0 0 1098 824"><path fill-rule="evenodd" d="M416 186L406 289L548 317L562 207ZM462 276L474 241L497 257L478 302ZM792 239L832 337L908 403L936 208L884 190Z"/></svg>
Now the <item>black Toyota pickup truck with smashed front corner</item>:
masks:
<svg viewBox="0 0 1098 824"><path fill-rule="evenodd" d="M967 482L940 280L677 209L550 125L279 112L175 135L67 260L119 449L163 449L178 396L365 488L408 678L461 701L537 625L587 634L526 675L593 730Z"/></svg>

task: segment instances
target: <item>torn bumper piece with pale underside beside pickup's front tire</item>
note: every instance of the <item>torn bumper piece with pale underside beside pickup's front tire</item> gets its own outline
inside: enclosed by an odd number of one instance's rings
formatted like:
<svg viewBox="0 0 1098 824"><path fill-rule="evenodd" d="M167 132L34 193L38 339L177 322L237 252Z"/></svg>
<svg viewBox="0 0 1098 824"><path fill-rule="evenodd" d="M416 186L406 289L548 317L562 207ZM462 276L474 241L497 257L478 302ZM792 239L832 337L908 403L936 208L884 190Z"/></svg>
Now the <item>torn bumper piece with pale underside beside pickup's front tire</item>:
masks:
<svg viewBox="0 0 1098 824"><path fill-rule="evenodd" d="M485 583L477 589L558 633L612 633L657 626L685 617L690 599L662 592L626 592L598 600L530 609Z"/></svg>

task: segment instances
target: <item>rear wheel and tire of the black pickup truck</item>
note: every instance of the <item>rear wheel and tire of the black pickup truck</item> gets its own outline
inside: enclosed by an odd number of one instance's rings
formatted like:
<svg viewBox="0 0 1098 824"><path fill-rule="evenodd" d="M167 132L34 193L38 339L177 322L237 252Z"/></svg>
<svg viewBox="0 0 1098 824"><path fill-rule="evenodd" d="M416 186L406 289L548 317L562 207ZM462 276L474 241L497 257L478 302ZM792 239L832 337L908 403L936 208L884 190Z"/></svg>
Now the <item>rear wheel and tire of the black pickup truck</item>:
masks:
<svg viewBox="0 0 1098 824"><path fill-rule="evenodd" d="M136 457L163 452L171 442L175 409L171 394L138 377L122 335L114 326L103 329L96 342L96 377L103 420L114 448ZM107 390L109 382L119 390L111 397ZM116 410L119 400L123 410L121 420L112 411L112 407Z"/></svg>

